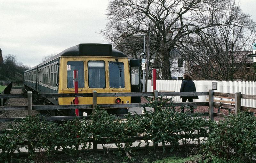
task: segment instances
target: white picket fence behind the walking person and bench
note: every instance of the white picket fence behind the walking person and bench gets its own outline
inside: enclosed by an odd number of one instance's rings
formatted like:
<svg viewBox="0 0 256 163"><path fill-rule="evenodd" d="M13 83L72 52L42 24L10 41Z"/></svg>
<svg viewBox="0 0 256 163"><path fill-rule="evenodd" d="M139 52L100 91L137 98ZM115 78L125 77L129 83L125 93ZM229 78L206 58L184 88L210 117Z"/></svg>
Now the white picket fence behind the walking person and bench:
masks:
<svg viewBox="0 0 256 163"><path fill-rule="evenodd" d="M181 80L156 80L156 89L167 90L167 91L180 91ZM236 93L241 92L241 94L256 95L256 82L250 81L199 81L195 80L196 91L204 92L212 89L212 82L218 83L217 90L215 92L223 93ZM153 86L150 85L151 80L148 80L148 92L153 92ZM194 100L194 102L206 102L207 96L198 96L199 99ZM170 98L170 97L169 97ZM174 97L175 101L181 102L180 96ZM220 98L216 98L220 99ZM230 101L230 99L223 99ZM256 108L256 100L241 99L241 105L247 107Z"/></svg>

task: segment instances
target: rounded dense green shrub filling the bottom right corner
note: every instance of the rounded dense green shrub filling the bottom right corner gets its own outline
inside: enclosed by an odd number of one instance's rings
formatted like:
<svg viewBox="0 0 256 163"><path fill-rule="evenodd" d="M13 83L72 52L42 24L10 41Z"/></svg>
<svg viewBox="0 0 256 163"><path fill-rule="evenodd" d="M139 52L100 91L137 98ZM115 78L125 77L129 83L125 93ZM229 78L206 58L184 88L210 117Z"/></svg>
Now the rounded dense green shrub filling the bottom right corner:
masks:
<svg viewBox="0 0 256 163"><path fill-rule="evenodd" d="M248 113L231 115L215 124L204 151L226 161L250 162L256 156L256 118Z"/></svg>

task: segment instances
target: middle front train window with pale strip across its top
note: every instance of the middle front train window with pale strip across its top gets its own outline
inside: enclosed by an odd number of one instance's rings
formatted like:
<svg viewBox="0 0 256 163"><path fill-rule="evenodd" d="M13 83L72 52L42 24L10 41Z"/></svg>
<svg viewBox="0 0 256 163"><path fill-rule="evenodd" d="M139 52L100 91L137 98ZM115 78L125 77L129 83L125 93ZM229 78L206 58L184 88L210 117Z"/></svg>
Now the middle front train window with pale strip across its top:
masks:
<svg viewBox="0 0 256 163"><path fill-rule="evenodd" d="M90 88L106 88L105 62L89 61L88 76Z"/></svg>

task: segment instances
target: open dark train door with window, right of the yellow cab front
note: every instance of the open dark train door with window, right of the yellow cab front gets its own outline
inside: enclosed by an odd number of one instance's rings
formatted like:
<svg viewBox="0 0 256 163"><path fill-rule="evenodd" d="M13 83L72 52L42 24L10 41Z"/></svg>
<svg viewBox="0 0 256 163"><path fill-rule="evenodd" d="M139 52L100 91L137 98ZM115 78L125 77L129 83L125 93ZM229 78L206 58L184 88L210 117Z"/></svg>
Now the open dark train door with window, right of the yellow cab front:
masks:
<svg viewBox="0 0 256 163"><path fill-rule="evenodd" d="M130 59L131 92L141 92L140 59ZM131 103L140 103L140 97L132 97Z"/></svg>

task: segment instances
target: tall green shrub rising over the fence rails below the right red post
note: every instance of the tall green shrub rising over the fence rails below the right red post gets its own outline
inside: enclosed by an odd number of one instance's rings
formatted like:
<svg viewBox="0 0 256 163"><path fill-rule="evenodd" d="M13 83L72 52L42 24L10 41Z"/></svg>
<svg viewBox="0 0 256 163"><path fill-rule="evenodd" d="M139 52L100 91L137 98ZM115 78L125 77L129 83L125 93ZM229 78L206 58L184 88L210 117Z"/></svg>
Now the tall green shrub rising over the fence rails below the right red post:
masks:
<svg viewBox="0 0 256 163"><path fill-rule="evenodd" d="M200 135L208 133L207 128L202 128L209 125L208 120L199 117L191 119L187 113L178 112L173 107L172 101L167 102L161 97L145 105L155 109L154 113L144 108L145 117L151 119L148 133L152 140L155 143L162 143L164 153L165 143L172 145L172 150L179 145L180 139L183 144L188 144L191 140L200 143Z"/></svg>

